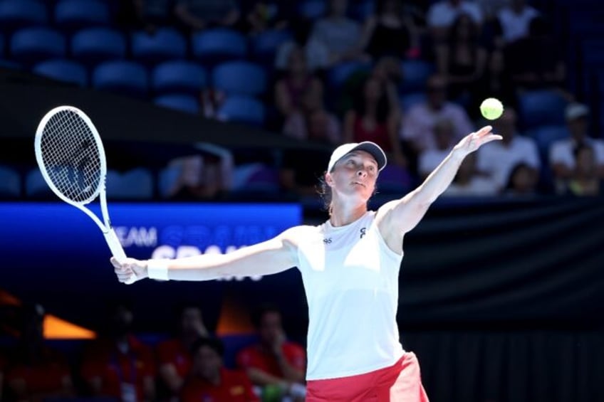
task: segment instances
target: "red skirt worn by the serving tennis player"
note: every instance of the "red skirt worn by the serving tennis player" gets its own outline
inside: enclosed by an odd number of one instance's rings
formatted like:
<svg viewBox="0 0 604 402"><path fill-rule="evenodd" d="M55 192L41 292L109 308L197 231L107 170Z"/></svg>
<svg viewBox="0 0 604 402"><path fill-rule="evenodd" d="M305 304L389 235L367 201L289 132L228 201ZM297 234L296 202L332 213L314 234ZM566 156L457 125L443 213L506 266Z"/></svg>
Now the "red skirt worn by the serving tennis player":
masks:
<svg viewBox="0 0 604 402"><path fill-rule="evenodd" d="M390 367L357 376L311 380L306 384L306 402L429 402L412 352Z"/></svg>

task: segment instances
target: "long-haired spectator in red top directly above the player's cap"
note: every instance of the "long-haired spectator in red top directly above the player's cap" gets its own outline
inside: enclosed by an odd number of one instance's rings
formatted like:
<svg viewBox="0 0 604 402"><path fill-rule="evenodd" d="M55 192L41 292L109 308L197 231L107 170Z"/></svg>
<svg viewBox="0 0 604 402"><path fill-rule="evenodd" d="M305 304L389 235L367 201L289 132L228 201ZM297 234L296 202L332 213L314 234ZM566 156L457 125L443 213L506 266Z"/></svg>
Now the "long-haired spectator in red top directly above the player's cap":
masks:
<svg viewBox="0 0 604 402"><path fill-rule="evenodd" d="M406 166L407 159L397 138L400 110L390 103L383 82L369 77L355 97L353 109L344 117L344 142L371 141L378 144L392 161Z"/></svg>

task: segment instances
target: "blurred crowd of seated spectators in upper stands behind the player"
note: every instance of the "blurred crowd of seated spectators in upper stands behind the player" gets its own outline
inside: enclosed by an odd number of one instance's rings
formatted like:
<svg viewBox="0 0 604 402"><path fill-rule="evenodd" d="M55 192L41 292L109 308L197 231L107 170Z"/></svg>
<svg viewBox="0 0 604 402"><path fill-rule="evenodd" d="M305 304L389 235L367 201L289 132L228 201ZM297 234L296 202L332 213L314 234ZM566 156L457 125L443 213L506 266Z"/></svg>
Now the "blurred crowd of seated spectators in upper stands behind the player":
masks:
<svg viewBox="0 0 604 402"><path fill-rule="evenodd" d="M425 178L464 134L492 124L504 141L469 157L445 196L600 194L601 136L590 132L590 110L568 90L552 19L529 3L377 0L361 17L351 13L357 2L330 0L323 17L308 20L287 1L138 0L124 21L149 31L166 23L184 31L226 26L248 36L292 31L292 40L267 63L272 90L263 97L270 111L265 126L333 147L376 142L408 186ZM417 90L405 90L417 83L405 77L402 60L432 65ZM353 70L333 88L330 73L350 62L366 62L368 68ZM558 128L568 135L546 149L526 132L518 112L519 95L538 89L568 100L563 116L554 119L566 122ZM224 94L209 88L200 96L204 115L217 117ZM486 97L504 102L499 120L481 117L479 104ZM176 182L187 184L172 194L181 198L218 196L237 175L232 158L196 155L180 162L186 179ZM276 166L281 191L315 194L325 166L323 155L286 153Z"/></svg>

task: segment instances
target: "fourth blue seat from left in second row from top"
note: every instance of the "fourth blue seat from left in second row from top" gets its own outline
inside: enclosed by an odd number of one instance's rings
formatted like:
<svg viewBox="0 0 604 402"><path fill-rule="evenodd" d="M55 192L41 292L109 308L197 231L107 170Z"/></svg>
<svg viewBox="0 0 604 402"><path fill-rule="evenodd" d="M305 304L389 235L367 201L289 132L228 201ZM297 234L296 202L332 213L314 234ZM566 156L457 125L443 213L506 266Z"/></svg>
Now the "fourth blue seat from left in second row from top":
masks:
<svg viewBox="0 0 604 402"><path fill-rule="evenodd" d="M193 34L191 48L194 58L214 65L246 58L248 41L246 36L233 29L209 28Z"/></svg>

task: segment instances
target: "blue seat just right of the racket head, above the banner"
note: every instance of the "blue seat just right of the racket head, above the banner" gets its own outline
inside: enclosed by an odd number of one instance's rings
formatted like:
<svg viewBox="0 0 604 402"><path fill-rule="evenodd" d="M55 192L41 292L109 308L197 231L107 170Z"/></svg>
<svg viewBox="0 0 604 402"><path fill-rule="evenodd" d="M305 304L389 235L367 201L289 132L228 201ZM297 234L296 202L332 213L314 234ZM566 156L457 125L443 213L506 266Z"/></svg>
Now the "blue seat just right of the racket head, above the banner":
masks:
<svg viewBox="0 0 604 402"><path fill-rule="evenodd" d="M108 199L151 199L154 180L149 169L135 168L119 172L107 171Z"/></svg>

